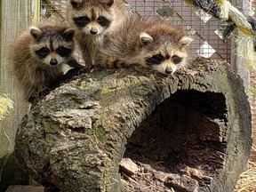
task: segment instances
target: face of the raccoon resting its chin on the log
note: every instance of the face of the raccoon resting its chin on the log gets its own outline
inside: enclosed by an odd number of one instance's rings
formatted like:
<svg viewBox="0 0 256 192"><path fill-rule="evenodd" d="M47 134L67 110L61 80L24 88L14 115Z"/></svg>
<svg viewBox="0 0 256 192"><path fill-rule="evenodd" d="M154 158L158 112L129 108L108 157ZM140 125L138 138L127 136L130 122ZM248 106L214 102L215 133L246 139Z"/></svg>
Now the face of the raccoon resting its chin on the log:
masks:
<svg viewBox="0 0 256 192"><path fill-rule="evenodd" d="M183 36L178 44L173 44L173 42L164 42L163 44L154 44L154 39L147 33L140 34L140 44L144 47L144 58L143 65L149 68L153 68L156 71L171 75L178 68L185 67L187 62L188 54L183 48L190 44L192 39L188 36ZM153 51L147 50L147 46L156 46Z"/></svg>

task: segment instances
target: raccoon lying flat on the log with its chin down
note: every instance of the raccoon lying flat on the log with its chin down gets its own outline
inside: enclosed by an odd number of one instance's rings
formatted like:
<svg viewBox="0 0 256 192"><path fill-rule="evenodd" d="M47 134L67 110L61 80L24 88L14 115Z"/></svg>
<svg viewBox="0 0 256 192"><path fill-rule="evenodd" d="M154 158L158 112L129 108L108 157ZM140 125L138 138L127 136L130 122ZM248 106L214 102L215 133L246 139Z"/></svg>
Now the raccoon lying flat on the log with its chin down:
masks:
<svg viewBox="0 0 256 192"><path fill-rule="evenodd" d="M170 75L186 67L185 47L191 41L180 29L172 28L163 20L132 18L105 36L97 64L107 68L139 64Z"/></svg>

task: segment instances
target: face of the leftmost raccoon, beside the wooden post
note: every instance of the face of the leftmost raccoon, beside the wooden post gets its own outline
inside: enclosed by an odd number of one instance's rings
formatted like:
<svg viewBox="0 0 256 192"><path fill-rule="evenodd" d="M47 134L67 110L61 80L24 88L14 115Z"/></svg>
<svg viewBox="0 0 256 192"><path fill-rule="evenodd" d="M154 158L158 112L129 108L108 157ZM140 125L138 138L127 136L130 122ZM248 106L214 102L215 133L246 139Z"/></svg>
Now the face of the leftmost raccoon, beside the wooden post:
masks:
<svg viewBox="0 0 256 192"><path fill-rule="evenodd" d="M68 61L74 50L73 29L64 32L54 31L48 28L43 32L39 28L31 28L30 34L34 38L34 43L30 46L31 53L36 59L50 66L57 66ZM50 32L51 31L51 32Z"/></svg>

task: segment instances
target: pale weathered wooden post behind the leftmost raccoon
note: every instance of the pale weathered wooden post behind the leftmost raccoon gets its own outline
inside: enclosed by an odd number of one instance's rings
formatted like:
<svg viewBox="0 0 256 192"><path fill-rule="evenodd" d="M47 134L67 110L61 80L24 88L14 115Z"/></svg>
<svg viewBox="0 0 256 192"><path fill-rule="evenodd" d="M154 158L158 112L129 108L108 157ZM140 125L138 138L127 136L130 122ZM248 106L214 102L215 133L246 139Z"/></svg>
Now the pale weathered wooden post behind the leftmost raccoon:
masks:
<svg viewBox="0 0 256 192"><path fill-rule="evenodd" d="M28 109L28 103L13 81L9 63L12 41L20 30L39 21L39 0L1 0L0 1L0 90L14 101L14 110L4 121L0 121L0 191L5 191L16 180L22 182L22 175L12 161L12 152L17 124Z"/></svg>

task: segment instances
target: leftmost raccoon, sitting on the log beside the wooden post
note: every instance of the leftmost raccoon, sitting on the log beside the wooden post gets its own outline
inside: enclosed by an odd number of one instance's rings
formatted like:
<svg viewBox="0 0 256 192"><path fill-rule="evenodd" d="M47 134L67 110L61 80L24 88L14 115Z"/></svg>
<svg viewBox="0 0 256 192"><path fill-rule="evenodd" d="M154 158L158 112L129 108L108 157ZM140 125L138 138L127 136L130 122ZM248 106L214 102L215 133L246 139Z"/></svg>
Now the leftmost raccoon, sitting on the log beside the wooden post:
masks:
<svg viewBox="0 0 256 192"><path fill-rule="evenodd" d="M41 23L23 31L12 44L11 62L25 99L32 101L58 82L63 64L83 68L73 57L75 31L63 23Z"/></svg>

